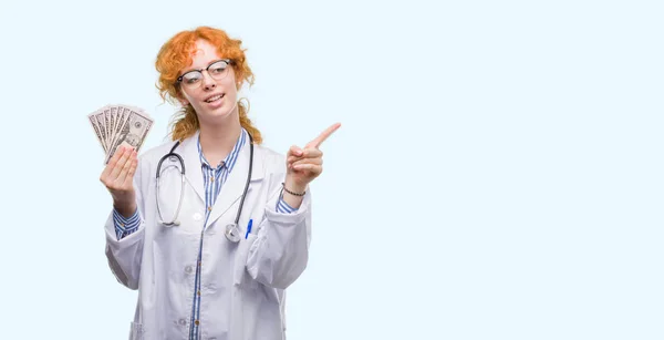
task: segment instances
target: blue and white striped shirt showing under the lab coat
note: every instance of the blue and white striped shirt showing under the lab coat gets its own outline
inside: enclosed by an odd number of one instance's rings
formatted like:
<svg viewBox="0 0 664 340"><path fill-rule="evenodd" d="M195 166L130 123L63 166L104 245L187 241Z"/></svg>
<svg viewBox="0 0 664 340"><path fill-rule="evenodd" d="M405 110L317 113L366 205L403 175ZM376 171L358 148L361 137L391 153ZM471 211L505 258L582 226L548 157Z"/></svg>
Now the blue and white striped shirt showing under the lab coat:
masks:
<svg viewBox="0 0 664 340"><path fill-rule="evenodd" d="M215 205L215 202L217 200L217 196L218 196L219 192L221 190L221 186L224 185L224 183L226 182L226 178L232 171L232 168L238 159L240 150L242 150L242 146L245 146L245 143L248 137L249 137L249 135L248 135L247 131L245 128L242 128L241 134L238 137L238 141L236 142L232 151L230 152L230 154L228 154L228 156L226 156L226 158L224 161L221 161L217 165L217 167L210 166L210 164L205 158L205 156L203 154L203 150L200 147L200 137L198 138L197 147L198 147L198 155L200 158L200 168L203 171L203 179L204 179L204 185L205 185L205 204L207 207L211 207ZM206 215L205 215L204 226L207 226L207 220L209 218L210 210L211 209L205 209ZM295 208L289 206L286 203L286 200L283 200L283 197L281 197L279 199L279 202L277 203L276 210L278 213L284 213L284 214L290 214L290 213L297 212ZM123 237L126 237L127 235L135 233L138 229L138 226L141 225L141 216L138 214L138 210L136 210L136 213L134 213L134 215L132 217L124 218L121 214L118 214L114 209L113 210L113 219L115 223L115 233L116 233L117 239L122 239ZM199 291L200 291L200 257L203 254L203 235L204 234L201 231L200 243L198 245L198 260L197 260L198 266L196 266L196 277L195 277L195 281L194 281L194 303L191 306L191 317L189 320L190 321L189 339L198 339L198 336L199 336L198 320L199 320L199 316L200 316L200 293L199 293Z"/></svg>

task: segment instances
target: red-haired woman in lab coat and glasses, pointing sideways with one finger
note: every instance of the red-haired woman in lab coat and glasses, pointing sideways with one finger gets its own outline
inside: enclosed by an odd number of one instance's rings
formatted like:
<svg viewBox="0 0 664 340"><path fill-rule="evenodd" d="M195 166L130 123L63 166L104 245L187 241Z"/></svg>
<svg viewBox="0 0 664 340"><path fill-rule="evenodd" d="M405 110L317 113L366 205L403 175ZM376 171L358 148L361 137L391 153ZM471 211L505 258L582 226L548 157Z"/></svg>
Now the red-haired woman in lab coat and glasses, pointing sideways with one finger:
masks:
<svg viewBox="0 0 664 340"><path fill-rule="evenodd" d="M340 125L286 156L261 146L237 97L253 80L240 44L207 27L167 41L156 69L160 95L184 107L174 142L139 157L118 148L101 175L108 264L138 289L131 339L284 338L284 289L308 260L308 185Z"/></svg>

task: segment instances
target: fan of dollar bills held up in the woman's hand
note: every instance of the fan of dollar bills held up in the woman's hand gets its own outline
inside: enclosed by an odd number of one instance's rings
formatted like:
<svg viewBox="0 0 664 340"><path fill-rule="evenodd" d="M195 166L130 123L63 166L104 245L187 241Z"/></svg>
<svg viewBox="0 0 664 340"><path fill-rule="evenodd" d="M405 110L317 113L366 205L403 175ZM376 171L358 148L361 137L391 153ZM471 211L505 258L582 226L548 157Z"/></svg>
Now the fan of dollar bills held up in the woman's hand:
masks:
<svg viewBox="0 0 664 340"><path fill-rule="evenodd" d="M129 105L106 105L89 114L87 119L104 148L104 164L122 144L138 152L154 122L142 109Z"/></svg>

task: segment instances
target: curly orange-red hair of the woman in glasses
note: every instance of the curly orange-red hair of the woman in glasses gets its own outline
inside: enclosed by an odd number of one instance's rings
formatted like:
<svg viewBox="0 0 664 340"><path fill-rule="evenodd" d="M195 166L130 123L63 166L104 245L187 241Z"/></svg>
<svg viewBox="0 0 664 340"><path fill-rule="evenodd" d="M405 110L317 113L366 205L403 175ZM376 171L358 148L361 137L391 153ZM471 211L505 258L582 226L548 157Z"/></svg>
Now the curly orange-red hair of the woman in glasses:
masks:
<svg viewBox="0 0 664 340"><path fill-rule="evenodd" d="M176 84L179 72L191 64L191 53L196 49L196 41L203 39L217 47L217 52L224 58L232 60L231 66L236 74L236 87L239 90L245 82L253 84L253 73L247 64L245 51L241 48L242 41L231 39L219 29L210 27L198 27L190 31L181 31L170 38L159 50L155 68L159 72L157 90L164 101L174 104L183 97L180 87ZM240 124L253 138L253 143L262 143L260 131L256 128L248 117L248 110L238 102ZM172 122L173 141L183 141L191 136L199 127L198 116L191 104L188 104L173 117Z"/></svg>

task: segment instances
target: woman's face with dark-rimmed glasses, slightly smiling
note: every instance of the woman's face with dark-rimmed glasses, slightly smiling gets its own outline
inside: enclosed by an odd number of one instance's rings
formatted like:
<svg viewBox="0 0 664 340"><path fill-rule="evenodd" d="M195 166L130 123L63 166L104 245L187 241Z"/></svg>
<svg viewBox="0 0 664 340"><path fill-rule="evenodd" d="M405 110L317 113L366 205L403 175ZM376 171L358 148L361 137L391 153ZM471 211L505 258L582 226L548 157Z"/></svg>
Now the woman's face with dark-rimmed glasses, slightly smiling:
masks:
<svg viewBox="0 0 664 340"><path fill-rule="evenodd" d="M184 105L191 104L200 124L216 125L237 116L237 89L232 66L222 62L217 48L196 42L191 65L180 71ZM209 68L208 68L209 66ZM200 72L190 72L203 70Z"/></svg>

